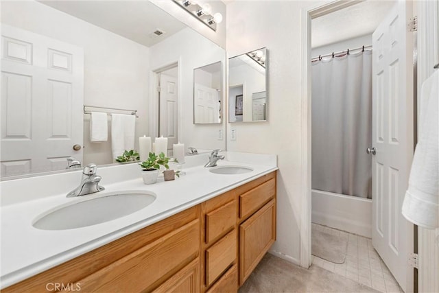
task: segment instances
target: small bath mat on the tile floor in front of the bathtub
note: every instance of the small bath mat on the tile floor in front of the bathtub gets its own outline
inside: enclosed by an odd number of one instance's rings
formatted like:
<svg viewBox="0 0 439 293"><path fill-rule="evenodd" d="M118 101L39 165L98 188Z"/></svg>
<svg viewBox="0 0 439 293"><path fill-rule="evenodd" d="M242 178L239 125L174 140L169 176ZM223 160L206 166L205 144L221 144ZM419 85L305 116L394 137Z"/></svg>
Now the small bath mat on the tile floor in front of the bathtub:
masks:
<svg viewBox="0 0 439 293"><path fill-rule="evenodd" d="M333 263L344 263L348 249L347 239L326 232L311 230L311 253Z"/></svg>

